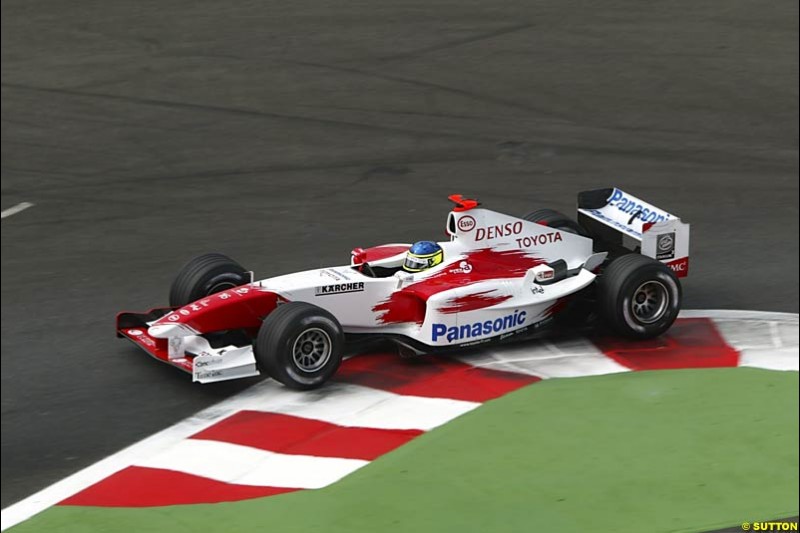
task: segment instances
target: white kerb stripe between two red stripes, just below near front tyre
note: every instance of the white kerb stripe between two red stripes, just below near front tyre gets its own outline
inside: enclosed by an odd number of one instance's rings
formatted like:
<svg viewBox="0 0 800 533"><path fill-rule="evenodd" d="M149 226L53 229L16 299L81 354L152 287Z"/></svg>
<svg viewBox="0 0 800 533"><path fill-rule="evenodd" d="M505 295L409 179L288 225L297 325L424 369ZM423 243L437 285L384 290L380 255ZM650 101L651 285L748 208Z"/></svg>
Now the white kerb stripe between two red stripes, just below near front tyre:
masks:
<svg viewBox="0 0 800 533"><path fill-rule="evenodd" d="M376 429L429 430L480 406L446 398L402 396L359 385L332 384L319 391L270 391L257 411Z"/></svg>

